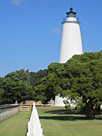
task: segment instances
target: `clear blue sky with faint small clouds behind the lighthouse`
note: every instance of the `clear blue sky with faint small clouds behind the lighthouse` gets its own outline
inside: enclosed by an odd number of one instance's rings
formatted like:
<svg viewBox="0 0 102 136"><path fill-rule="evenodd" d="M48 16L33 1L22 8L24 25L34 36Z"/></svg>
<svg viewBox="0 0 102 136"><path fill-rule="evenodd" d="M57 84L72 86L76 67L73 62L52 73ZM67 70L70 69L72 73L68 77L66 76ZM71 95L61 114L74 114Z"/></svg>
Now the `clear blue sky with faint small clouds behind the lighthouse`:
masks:
<svg viewBox="0 0 102 136"><path fill-rule="evenodd" d="M73 8L83 52L102 50L102 0L1 0L0 77L37 72L59 62L62 22Z"/></svg>

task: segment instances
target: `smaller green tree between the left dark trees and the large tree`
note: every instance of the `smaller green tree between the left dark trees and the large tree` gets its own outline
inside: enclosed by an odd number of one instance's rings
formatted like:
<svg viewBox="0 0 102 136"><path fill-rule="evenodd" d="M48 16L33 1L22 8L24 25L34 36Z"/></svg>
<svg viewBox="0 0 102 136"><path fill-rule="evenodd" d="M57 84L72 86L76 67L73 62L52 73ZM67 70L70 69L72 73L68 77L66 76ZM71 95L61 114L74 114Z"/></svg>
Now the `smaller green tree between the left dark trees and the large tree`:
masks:
<svg viewBox="0 0 102 136"><path fill-rule="evenodd" d="M41 100L43 103L48 102L51 98L54 99L56 85L58 78L56 77L56 70L62 64L51 63L48 66L47 75L40 80L40 84L35 87L35 100ZM56 93L57 94L57 93Z"/></svg>

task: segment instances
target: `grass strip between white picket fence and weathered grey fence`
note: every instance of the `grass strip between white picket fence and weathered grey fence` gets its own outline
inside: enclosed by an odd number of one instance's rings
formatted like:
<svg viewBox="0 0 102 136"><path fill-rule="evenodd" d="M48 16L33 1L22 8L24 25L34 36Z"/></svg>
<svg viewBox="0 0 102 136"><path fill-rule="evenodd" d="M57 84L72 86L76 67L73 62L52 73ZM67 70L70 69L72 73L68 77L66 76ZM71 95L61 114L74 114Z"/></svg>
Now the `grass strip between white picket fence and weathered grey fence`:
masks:
<svg viewBox="0 0 102 136"><path fill-rule="evenodd" d="M26 136L31 112L21 111L0 123L0 136Z"/></svg>

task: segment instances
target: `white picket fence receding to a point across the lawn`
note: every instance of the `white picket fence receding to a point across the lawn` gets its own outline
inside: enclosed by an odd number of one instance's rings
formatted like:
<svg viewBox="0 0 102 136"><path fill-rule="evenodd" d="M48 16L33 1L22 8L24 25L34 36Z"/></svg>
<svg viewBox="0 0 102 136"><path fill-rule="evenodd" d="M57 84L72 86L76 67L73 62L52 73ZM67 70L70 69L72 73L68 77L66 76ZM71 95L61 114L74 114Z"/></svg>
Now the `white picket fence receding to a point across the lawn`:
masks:
<svg viewBox="0 0 102 136"><path fill-rule="evenodd" d="M44 136L35 103L33 104L31 117L28 122L27 136Z"/></svg>

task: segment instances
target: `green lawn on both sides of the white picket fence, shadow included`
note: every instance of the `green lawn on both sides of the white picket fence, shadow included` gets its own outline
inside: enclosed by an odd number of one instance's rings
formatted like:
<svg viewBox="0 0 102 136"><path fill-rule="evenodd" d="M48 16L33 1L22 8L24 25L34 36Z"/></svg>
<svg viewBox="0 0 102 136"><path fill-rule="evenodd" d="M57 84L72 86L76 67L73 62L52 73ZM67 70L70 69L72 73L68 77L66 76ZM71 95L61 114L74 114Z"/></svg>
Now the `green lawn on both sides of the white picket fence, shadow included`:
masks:
<svg viewBox="0 0 102 136"><path fill-rule="evenodd" d="M102 116L85 120L85 115L66 113L64 108L37 107L45 136L102 136ZM0 136L26 136L31 112L19 112L0 123Z"/></svg>

